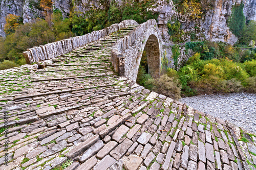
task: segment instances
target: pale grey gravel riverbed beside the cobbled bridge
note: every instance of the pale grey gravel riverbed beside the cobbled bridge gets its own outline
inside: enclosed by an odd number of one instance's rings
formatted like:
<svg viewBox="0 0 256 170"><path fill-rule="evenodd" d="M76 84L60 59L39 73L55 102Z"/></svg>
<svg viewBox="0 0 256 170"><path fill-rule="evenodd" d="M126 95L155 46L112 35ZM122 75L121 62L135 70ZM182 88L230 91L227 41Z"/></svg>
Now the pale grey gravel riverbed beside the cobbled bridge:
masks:
<svg viewBox="0 0 256 170"><path fill-rule="evenodd" d="M256 94L230 93L198 95L180 102L256 133Z"/></svg>

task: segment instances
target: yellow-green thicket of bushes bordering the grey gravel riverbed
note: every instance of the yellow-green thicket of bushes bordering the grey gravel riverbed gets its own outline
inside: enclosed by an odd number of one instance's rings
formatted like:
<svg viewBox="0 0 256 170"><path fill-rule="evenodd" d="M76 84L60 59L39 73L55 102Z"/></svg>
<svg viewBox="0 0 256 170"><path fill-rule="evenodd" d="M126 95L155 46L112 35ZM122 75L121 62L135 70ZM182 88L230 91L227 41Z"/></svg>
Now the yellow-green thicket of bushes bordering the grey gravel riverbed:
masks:
<svg viewBox="0 0 256 170"><path fill-rule="evenodd" d="M248 91L250 86L252 88L255 86L251 83L253 80L248 82L249 75L255 75L255 63L255 60L252 60L241 64L228 58L201 60L200 53L196 53L178 72L182 93L195 95L196 93L238 92L245 88Z"/></svg>

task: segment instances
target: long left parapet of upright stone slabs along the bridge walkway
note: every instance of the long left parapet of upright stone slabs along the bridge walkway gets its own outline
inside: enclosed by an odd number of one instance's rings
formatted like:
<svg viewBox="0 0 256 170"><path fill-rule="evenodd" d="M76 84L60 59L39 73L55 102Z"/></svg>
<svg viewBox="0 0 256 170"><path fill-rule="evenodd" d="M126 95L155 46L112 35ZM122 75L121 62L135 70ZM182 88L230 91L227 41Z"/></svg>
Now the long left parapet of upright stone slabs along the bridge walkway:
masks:
<svg viewBox="0 0 256 170"><path fill-rule="evenodd" d="M71 37L65 40L28 48L26 52L23 52L23 55L28 64L49 60L62 54L67 54L79 46L96 41L130 25L138 25L138 23L135 20L124 20L103 30L93 31L86 35Z"/></svg>

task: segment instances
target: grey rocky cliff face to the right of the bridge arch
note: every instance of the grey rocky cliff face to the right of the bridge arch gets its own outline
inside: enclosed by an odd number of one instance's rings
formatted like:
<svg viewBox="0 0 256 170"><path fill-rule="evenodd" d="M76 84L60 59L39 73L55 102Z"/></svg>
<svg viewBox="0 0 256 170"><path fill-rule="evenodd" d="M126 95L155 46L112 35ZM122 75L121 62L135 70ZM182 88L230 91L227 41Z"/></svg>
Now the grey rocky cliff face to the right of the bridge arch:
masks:
<svg viewBox="0 0 256 170"><path fill-rule="evenodd" d="M241 4L241 0L214 0L214 7L207 10L200 19L190 20L186 16L179 15L182 23L182 29L185 32L195 32L199 40L222 41L233 44L238 38L234 36L228 28L228 18L232 13L232 7ZM244 15L246 20L256 20L256 0L242 1L244 6ZM158 12L160 29L167 34L167 21L172 19L173 15L178 15L174 10L173 2L164 3L159 7ZM190 37L187 36L187 39Z"/></svg>

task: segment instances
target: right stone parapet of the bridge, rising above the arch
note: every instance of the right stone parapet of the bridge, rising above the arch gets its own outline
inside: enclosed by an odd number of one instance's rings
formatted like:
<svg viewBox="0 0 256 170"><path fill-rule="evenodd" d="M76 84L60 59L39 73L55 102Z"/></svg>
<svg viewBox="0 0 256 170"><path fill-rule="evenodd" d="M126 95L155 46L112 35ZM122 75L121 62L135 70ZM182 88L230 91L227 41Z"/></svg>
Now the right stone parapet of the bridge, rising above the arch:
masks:
<svg viewBox="0 0 256 170"><path fill-rule="evenodd" d="M157 22L155 19L150 19L142 23L132 32L130 32L129 35L118 39L113 45L111 51L112 66L114 67L115 71L118 72L119 76L125 76L124 62L126 54L129 55L131 51L136 50L132 49L131 46L152 26L157 27Z"/></svg>

